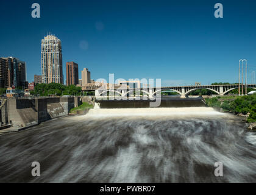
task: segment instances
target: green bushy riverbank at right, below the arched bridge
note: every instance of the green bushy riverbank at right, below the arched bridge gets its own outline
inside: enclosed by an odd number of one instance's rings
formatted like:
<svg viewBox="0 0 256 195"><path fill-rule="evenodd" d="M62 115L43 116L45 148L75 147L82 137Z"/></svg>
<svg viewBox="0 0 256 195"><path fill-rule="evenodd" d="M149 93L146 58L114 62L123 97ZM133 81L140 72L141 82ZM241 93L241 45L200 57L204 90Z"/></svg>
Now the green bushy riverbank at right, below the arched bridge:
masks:
<svg viewBox="0 0 256 195"><path fill-rule="evenodd" d="M208 107L219 112L233 113L243 117L248 130L256 131L256 94L251 96L217 96L205 98Z"/></svg>

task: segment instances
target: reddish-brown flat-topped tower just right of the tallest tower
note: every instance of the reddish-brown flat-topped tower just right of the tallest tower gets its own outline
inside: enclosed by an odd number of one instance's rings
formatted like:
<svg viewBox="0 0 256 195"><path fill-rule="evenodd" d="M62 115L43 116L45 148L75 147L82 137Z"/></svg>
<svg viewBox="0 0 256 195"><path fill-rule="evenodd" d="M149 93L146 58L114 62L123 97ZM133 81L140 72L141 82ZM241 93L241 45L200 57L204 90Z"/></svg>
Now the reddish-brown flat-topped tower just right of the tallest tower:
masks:
<svg viewBox="0 0 256 195"><path fill-rule="evenodd" d="M79 84L78 78L78 65L74 62L66 63L66 85L77 85Z"/></svg>

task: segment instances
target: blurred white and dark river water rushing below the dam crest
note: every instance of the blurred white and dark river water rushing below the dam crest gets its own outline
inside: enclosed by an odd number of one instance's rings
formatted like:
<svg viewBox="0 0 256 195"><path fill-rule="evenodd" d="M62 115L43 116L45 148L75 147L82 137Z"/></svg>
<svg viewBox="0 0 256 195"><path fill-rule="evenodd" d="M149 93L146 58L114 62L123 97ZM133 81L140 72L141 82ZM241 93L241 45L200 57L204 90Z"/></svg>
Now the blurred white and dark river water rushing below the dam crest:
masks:
<svg viewBox="0 0 256 195"><path fill-rule="evenodd" d="M202 104L113 103L0 136L0 182L256 181L256 134L237 116ZM33 161L40 177L30 174Z"/></svg>

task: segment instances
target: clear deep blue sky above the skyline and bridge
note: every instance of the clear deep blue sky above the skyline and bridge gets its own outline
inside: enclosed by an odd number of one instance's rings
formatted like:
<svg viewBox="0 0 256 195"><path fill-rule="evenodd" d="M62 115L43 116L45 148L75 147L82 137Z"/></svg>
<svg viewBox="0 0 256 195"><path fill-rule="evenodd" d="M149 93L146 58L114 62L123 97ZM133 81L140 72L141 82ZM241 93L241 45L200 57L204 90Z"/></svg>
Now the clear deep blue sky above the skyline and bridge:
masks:
<svg viewBox="0 0 256 195"><path fill-rule="evenodd" d="M31 5L41 6L32 18ZM214 17L221 2L224 18ZM62 40L65 64L92 79L162 79L162 85L237 82L238 60L256 71L256 1L1 0L0 56L27 62L27 80L41 74L40 43ZM251 77L248 79L251 82Z"/></svg>

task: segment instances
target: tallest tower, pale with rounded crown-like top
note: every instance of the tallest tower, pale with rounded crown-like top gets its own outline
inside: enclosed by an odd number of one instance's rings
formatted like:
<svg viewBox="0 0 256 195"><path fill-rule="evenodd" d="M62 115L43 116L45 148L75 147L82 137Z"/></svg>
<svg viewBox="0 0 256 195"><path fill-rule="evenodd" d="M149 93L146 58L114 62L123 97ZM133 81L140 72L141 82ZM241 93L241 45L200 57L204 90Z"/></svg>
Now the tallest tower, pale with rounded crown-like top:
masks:
<svg viewBox="0 0 256 195"><path fill-rule="evenodd" d="M62 43L54 35L41 40L41 76L43 83L62 83Z"/></svg>

